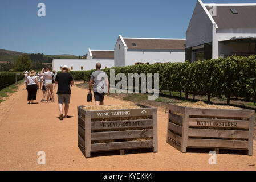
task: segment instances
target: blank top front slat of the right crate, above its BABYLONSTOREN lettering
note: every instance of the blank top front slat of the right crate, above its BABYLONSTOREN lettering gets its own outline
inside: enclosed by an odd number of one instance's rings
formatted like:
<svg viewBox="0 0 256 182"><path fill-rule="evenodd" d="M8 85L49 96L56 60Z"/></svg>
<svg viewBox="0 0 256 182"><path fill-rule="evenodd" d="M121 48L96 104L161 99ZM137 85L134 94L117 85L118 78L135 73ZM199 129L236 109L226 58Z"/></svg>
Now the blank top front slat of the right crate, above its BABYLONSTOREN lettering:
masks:
<svg viewBox="0 0 256 182"><path fill-rule="evenodd" d="M254 110L232 110L232 109L201 109L201 108L186 108L189 115L209 115L216 117L237 117L250 118L254 114Z"/></svg>

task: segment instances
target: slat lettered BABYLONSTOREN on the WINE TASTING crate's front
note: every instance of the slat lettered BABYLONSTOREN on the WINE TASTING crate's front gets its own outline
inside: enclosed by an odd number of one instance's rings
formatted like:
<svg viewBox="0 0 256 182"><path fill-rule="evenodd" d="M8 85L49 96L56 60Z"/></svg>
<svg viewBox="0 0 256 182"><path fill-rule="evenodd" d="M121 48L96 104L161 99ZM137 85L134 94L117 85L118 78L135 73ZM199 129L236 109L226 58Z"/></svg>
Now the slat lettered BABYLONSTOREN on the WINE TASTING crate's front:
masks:
<svg viewBox="0 0 256 182"><path fill-rule="evenodd" d="M152 126L153 126L153 119L91 122L92 130L127 129L127 128L135 128L135 127L152 127Z"/></svg>

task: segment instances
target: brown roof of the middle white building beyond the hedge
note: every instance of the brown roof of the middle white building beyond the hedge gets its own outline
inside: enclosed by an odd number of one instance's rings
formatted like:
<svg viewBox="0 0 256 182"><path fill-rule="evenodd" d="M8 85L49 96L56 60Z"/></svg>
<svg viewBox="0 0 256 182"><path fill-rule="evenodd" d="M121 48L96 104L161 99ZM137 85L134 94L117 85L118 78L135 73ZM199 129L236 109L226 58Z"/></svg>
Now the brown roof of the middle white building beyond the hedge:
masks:
<svg viewBox="0 0 256 182"><path fill-rule="evenodd" d="M185 50L186 39L123 38L127 49Z"/></svg>

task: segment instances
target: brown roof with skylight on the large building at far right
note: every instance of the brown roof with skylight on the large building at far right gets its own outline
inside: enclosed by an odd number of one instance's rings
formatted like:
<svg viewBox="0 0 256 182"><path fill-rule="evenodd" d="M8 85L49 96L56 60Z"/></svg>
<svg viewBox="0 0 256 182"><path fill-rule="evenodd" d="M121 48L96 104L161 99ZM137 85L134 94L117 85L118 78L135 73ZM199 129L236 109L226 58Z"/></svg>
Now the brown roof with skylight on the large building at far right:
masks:
<svg viewBox="0 0 256 182"><path fill-rule="evenodd" d="M256 3L206 4L201 0L198 2L216 28L256 28ZM216 16L209 13L213 7L216 7ZM230 9L237 10L238 14L233 14Z"/></svg>

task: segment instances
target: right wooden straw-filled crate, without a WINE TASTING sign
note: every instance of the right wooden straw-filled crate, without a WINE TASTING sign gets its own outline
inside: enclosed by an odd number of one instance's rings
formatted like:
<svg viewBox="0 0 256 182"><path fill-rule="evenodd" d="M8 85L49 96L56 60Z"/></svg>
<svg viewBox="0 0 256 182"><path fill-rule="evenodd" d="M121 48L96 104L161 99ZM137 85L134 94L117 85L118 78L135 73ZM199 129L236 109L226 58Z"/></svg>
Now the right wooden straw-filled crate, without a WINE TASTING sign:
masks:
<svg viewBox="0 0 256 182"><path fill-rule="evenodd" d="M169 104L167 140L187 148L247 150L253 155L253 110L198 109Z"/></svg>

